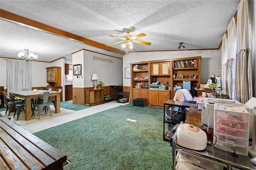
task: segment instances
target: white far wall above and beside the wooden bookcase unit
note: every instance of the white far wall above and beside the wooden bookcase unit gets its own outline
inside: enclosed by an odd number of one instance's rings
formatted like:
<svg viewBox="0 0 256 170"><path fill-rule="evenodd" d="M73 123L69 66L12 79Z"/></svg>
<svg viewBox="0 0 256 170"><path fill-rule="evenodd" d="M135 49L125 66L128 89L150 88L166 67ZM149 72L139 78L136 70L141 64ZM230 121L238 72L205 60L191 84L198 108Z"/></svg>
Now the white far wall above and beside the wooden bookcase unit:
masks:
<svg viewBox="0 0 256 170"><path fill-rule="evenodd" d="M137 52L128 53L123 57L123 71L124 68L130 67L130 63L140 61L152 61L160 59L174 59L185 57L201 56L201 83L207 83L211 74L218 75L220 68L220 53L219 50L192 50L192 51L157 51L157 52ZM132 78L132 77L131 77ZM124 78L124 86L130 86L130 79Z"/></svg>

